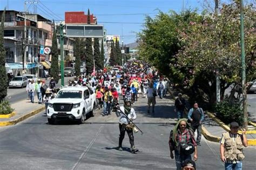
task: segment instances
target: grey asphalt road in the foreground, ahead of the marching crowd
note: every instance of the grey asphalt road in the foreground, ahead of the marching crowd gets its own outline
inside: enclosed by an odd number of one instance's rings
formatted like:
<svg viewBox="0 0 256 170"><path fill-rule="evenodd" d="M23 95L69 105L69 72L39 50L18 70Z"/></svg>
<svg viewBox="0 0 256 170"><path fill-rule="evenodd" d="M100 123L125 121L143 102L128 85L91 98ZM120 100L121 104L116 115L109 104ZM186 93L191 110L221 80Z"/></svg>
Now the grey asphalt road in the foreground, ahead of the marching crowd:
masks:
<svg viewBox="0 0 256 170"><path fill-rule="evenodd" d="M168 119L166 110L171 112L172 106L157 102L153 117L159 114ZM145 114L145 103L134 108L138 114ZM1 169L176 169L168 146L173 125L138 122L144 134L134 134L140 152L131 154L127 135L125 150L117 150L118 124L48 125L46 122L45 115L40 113L17 125L0 128ZM245 149L243 169L255 168L255 151L252 146ZM219 144L203 138L198 152L197 169L224 169L219 159Z"/></svg>

